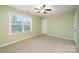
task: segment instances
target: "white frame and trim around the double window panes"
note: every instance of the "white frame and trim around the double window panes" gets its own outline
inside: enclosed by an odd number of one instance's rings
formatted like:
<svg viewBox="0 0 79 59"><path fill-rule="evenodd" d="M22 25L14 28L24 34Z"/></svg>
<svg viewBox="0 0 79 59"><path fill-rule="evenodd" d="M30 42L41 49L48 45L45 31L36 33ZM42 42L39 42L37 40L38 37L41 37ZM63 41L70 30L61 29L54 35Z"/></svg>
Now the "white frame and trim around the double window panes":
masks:
<svg viewBox="0 0 79 59"><path fill-rule="evenodd" d="M23 22L22 22L22 32L16 32L16 33L12 33L12 28L11 28L11 17L12 17L12 15L17 15L17 16L23 16L23 17L28 17L28 18L30 18L31 20L31 24L30 24L30 26L31 26L31 29L30 29L30 31L24 31L24 24L23 24ZM19 24L18 24L19 25ZM9 12L9 35L15 35L15 34L20 34L20 33L28 33L28 32L32 32L32 17L30 17L30 16L25 16L25 15L21 15L21 14L18 14L18 13L13 13L13 12Z"/></svg>

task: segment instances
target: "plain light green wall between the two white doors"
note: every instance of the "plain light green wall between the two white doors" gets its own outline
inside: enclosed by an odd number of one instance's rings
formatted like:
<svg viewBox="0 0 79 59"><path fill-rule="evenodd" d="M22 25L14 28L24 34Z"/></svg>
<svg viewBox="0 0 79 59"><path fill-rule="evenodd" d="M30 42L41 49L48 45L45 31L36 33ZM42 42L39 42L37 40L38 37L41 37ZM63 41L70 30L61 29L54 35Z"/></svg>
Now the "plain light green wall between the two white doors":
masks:
<svg viewBox="0 0 79 59"><path fill-rule="evenodd" d="M73 12L47 18L47 33L65 39L73 39Z"/></svg>

